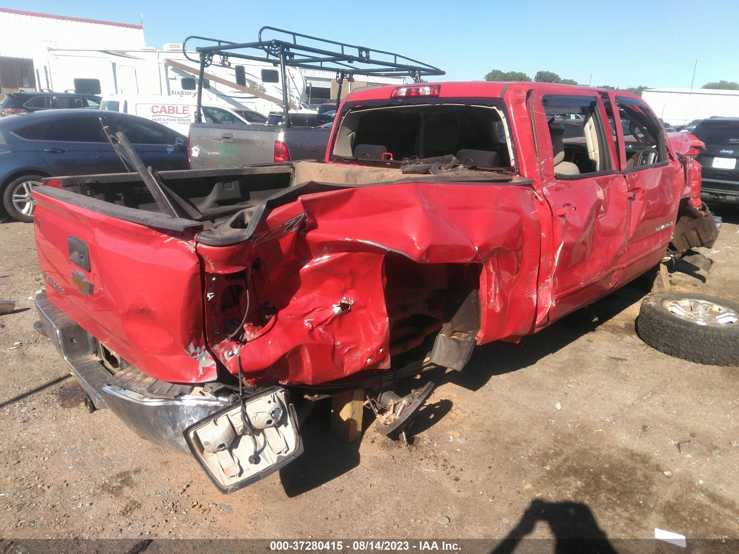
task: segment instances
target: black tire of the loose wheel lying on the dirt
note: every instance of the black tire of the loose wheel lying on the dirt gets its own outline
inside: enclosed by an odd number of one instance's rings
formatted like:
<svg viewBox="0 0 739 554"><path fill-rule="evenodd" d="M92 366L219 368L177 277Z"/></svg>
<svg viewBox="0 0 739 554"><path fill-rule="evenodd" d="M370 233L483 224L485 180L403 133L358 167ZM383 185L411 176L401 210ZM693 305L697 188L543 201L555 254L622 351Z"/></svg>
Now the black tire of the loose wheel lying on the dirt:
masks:
<svg viewBox="0 0 739 554"><path fill-rule="evenodd" d="M704 301L739 314L739 304L704 294L658 293L641 301L636 333L660 352L709 366L739 366L739 321L726 326L698 324L690 309L684 317L675 315L675 301ZM668 310L670 305L673 312ZM695 305L695 304L693 304ZM726 312L723 312L726 313ZM730 316L724 316L732 321Z"/></svg>

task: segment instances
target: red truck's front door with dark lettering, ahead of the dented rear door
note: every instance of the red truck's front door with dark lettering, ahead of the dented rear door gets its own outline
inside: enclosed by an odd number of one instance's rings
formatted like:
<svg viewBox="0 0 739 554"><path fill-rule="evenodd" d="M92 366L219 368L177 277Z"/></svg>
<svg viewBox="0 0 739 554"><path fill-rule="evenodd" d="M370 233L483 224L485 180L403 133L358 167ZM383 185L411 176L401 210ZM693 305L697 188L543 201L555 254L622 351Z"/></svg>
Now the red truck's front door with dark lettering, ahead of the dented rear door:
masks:
<svg viewBox="0 0 739 554"><path fill-rule="evenodd" d="M672 240L685 179L657 117L641 100L609 92L628 189L624 281L657 264Z"/></svg>

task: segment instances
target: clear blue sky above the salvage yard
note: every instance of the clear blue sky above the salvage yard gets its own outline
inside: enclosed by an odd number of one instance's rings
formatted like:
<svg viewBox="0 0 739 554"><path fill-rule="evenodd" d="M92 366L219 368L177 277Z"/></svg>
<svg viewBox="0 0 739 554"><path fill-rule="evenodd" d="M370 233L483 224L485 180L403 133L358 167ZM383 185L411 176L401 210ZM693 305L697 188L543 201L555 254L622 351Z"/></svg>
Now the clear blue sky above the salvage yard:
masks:
<svg viewBox="0 0 739 554"><path fill-rule="evenodd" d="M539 69L593 85L739 81L739 1L100 1L0 0L2 7L138 23L161 48L186 35L256 40L262 25L388 49L446 70Z"/></svg>

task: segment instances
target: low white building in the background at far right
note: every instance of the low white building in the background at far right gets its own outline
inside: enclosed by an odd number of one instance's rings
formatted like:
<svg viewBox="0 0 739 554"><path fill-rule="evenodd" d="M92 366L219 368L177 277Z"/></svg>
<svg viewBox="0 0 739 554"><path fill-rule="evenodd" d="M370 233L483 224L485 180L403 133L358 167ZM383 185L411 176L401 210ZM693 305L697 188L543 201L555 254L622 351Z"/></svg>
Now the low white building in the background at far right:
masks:
<svg viewBox="0 0 739 554"><path fill-rule="evenodd" d="M712 115L739 117L739 90L646 89L641 93L665 123L684 125Z"/></svg>

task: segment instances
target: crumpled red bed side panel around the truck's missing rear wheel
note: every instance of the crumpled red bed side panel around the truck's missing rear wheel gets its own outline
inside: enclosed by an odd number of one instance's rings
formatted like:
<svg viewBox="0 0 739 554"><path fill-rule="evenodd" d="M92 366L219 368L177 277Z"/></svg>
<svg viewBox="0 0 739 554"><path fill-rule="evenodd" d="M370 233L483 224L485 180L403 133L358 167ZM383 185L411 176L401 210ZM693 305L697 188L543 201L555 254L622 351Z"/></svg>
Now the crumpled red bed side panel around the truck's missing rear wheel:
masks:
<svg viewBox="0 0 739 554"><path fill-rule="evenodd" d="M403 183L299 196L265 218L254 233L258 242L198 244L212 272L208 288L216 287L213 299L206 298L208 343L236 374L238 343L218 328L220 298L228 289L228 273L218 273L222 261L242 272L231 280L239 287L248 274L248 340L239 352L252 383L315 384L387 368L386 295L395 286L388 280L402 277L388 276L386 264L398 256L421 280L442 264L479 266L477 342L525 335L536 312L540 230L534 202L528 186L488 184ZM298 220L299 227L290 223ZM222 248L231 248L230 259L219 255Z"/></svg>

